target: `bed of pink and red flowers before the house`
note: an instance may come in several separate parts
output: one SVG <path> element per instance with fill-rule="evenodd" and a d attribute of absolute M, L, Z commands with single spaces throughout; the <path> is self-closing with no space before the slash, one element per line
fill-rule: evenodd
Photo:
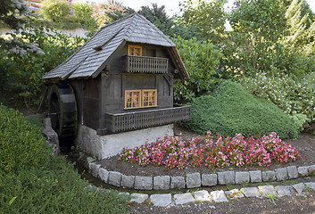
<path fill-rule="evenodd" d="M 236 134 L 233 138 L 208 131 L 206 136 L 198 136 L 184 141 L 180 136 L 163 136 L 153 144 L 144 144 L 134 149 L 124 147 L 120 161 L 138 163 L 145 167 L 165 165 L 167 169 L 184 169 L 187 166 L 210 169 L 244 165 L 269 166 L 271 161 L 286 163 L 300 157 L 290 144 L 284 143 L 276 133 L 258 139 Z"/>

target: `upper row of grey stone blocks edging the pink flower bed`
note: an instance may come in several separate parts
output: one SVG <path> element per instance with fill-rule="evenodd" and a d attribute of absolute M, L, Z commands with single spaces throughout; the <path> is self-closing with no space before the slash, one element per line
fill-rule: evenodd
<path fill-rule="evenodd" d="M 134 188 L 137 190 L 168 190 L 173 188 L 197 188 L 201 186 L 235 185 L 246 183 L 283 181 L 298 177 L 307 177 L 315 172 L 315 165 L 296 167 L 289 166 L 275 170 L 253 171 L 223 171 L 212 174 L 189 173 L 185 177 L 142 177 L 126 176 L 117 171 L 101 168 L 91 157 L 87 157 L 88 172 L 100 178 L 104 183 L 118 187 Z"/>

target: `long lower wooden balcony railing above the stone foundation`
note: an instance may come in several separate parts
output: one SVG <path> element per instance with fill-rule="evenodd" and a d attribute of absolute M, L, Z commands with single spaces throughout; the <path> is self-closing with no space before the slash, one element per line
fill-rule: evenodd
<path fill-rule="evenodd" d="M 189 105 L 151 111 L 108 113 L 107 128 L 109 131 L 117 133 L 160 126 L 187 119 L 190 119 Z"/>

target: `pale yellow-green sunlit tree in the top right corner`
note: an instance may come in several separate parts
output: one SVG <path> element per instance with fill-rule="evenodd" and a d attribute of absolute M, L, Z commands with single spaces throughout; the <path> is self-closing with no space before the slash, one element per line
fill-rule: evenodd
<path fill-rule="evenodd" d="M 286 10 L 288 33 L 281 39 L 283 59 L 279 67 L 286 74 L 303 76 L 315 71 L 315 22 L 310 13 L 303 13 L 304 0 L 293 0 Z"/>

